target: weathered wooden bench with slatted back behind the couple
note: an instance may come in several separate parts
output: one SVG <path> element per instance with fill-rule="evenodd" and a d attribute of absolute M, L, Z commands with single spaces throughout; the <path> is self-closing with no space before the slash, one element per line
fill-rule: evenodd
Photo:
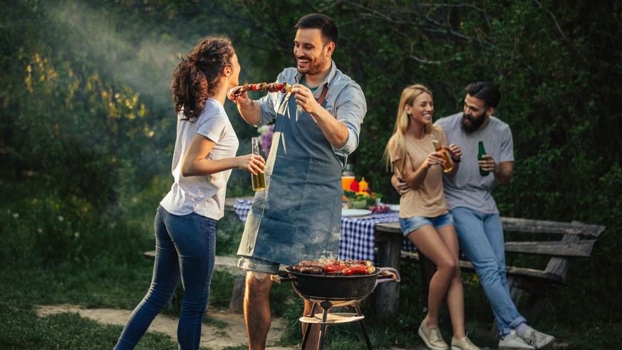
<path fill-rule="evenodd" d="M 569 285 L 566 276 L 570 259 L 590 257 L 594 243 L 605 227 L 581 222 L 554 222 L 514 217 L 502 217 L 501 222 L 506 237 L 509 292 L 514 304 L 520 306 L 521 314 L 528 321 L 534 321 L 539 312 L 546 307 L 551 291 Z M 378 224 L 375 230 L 385 235 L 402 233 L 398 222 Z M 422 282 L 427 294 L 427 285 L 436 270 L 435 265 L 417 252 L 401 251 L 400 257 L 420 262 Z M 519 264 L 522 266 L 518 266 Z M 463 271 L 475 272 L 473 265 L 466 260 L 460 261 L 460 267 Z M 527 301 L 519 304 L 526 292 Z M 496 321 L 492 326 L 492 334 L 494 337 L 498 336 Z"/>

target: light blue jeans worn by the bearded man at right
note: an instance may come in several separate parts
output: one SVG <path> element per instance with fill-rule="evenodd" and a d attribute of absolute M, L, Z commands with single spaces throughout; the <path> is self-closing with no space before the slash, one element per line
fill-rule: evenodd
<path fill-rule="evenodd" d="M 465 207 L 451 210 L 460 249 L 480 276 L 482 289 L 501 334 L 508 334 L 525 318 L 519 314 L 510 297 L 505 276 L 505 247 L 499 214 L 484 214 Z"/>

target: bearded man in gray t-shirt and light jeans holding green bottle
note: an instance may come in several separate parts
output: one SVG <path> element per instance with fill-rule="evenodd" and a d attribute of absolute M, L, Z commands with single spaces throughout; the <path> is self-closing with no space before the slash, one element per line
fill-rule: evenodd
<path fill-rule="evenodd" d="M 512 302 L 505 274 L 503 227 L 491 195 L 494 185 L 509 184 L 514 170 L 512 130 L 492 115 L 501 93 L 489 82 L 471 83 L 465 90 L 462 113 L 435 123 L 445 130 L 447 143 L 462 149 L 460 171 L 454 177 L 442 178 L 445 199 L 454 218 L 460 249 L 475 267 L 497 319 L 498 349 L 542 349 L 555 338 L 527 325 Z M 487 153 L 483 160 L 477 160 L 480 142 Z M 480 175 L 480 168 L 489 173 Z M 392 183 L 400 193 L 405 188 L 396 176 Z"/>

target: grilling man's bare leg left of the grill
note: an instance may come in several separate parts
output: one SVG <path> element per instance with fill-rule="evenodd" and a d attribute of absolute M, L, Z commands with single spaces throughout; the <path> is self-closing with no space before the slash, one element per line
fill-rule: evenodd
<path fill-rule="evenodd" d="M 244 319 L 247 323 L 249 350 L 264 350 L 270 329 L 270 290 L 272 280 L 265 272 L 247 272 L 244 290 Z M 316 347 L 317 349 L 317 347 Z"/>

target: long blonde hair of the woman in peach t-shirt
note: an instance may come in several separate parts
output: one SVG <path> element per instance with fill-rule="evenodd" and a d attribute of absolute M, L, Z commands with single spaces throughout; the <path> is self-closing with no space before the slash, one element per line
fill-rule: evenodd
<path fill-rule="evenodd" d="M 395 128 L 393 129 L 393 135 L 389 139 L 387 146 L 385 147 L 385 152 L 383 154 L 383 158 L 386 161 L 387 170 L 391 169 L 391 171 L 395 170 L 393 163 L 391 163 L 391 159 L 389 156 L 389 149 L 397 147 L 400 150 L 400 154 L 406 154 L 406 140 L 405 135 L 408 131 L 408 125 L 410 125 L 410 115 L 406 113 L 406 105 L 413 105 L 415 102 L 415 98 L 418 98 L 422 93 L 427 93 L 430 95 L 432 100 L 434 96 L 432 96 L 432 92 L 430 89 L 426 88 L 421 84 L 415 84 L 408 86 L 402 91 L 402 97 L 400 98 L 400 105 L 398 106 L 398 116 L 395 118 Z M 427 134 L 432 133 L 435 130 L 434 125 L 432 123 L 425 125 L 425 132 Z M 394 145 L 395 144 L 395 145 Z M 406 162 L 402 162 L 400 166 L 400 173 L 404 173 Z"/>

